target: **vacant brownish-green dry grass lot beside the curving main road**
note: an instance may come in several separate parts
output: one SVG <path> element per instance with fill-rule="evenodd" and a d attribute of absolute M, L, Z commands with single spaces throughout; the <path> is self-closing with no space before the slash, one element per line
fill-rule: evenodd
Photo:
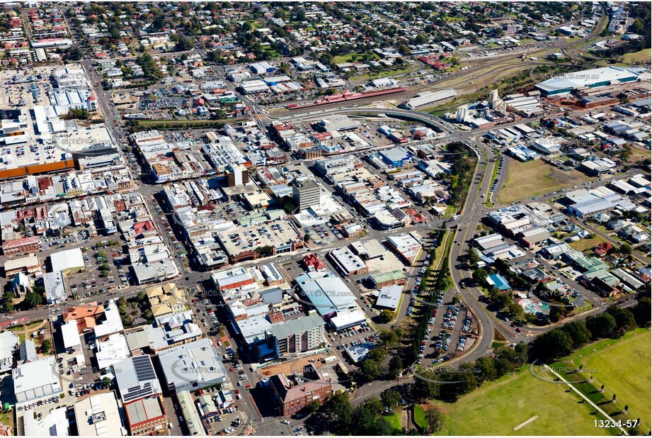
<path fill-rule="evenodd" d="M 540 159 L 528 162 L 510 159 L 507 179 L 501 191 L 498 192 L 498 202 L 509 204 L 514 201 L 522 201 L 532 196 L 588 181 L 593 181 L 593 179 L 576 170 L 557 169 Z"/>

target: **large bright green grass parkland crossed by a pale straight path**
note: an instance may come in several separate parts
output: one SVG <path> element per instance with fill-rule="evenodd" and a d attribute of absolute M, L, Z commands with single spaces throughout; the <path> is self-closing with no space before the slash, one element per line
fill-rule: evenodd
<path fill-rule="evenodd" d="M 640 429 L 645 433 L 651 427 L 650 342 L 650 330 L 639 329 L 622 339 L 606 339 L 591 344 L 553 367 L 582 364 L 584 369 L 595 371 L 593 383 L 578 383 L 576 388 L 614 420 L 641 417 Z M 625 373 L 624 369 L 629 371 Z M 568 381 L 589 378 L 583 374 L 562 376 Z M 597 393 L 596 388 L 602 384 L 605 393 Z M 481 386 L 457 403 L 438 403 L 446 420 L 444 428 L 437 434 L 613 435 L 619 432 L 618 429 L 596 429 L 593 420 L 604 417 L 591 415 L 592 406 L 580 403 L 578 395 L 566 391 L 566 385 L 540 380 L 525 367 L 513 376 Z M 617 394 L 617 403 L 600 405 L 602 400 L 611 400 L 613 393 Z M 629 405 L 629 414 L 617 415 L 624 405 Z M 415 420 L 420 416 L 417 411 Z M 522 426 L 514 430 L 519 425 Z"/>

